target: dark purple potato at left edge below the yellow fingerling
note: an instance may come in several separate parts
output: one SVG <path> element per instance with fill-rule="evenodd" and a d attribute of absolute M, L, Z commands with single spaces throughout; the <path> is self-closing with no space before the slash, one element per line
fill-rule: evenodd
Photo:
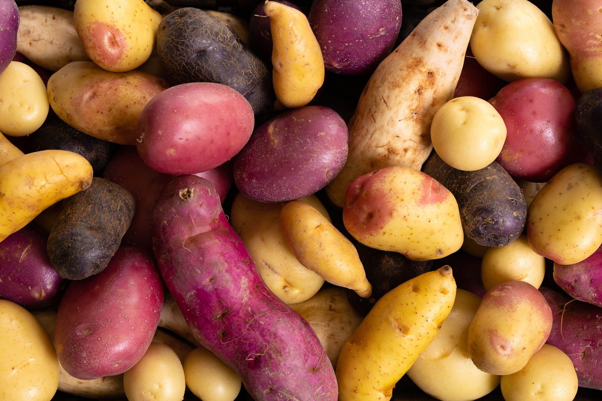
<path fill-rule="evenodd" d="M 48 235 L 40 229 L 25 227 L 2 241 L 0 299 L 24 308 L 45 308 L 58 301 L 64 279 L 48 260 L 46 240 Z"/>

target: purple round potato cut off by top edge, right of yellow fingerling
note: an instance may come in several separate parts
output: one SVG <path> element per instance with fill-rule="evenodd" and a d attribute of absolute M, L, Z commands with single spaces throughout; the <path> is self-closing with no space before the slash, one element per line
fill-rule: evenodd
<path fill-rule="evenodd" d="M 402 26 L 397 0 L 317 0 L 309 24 L 320 43 L 327 70 L 368 73 L 393 49 Z"/>

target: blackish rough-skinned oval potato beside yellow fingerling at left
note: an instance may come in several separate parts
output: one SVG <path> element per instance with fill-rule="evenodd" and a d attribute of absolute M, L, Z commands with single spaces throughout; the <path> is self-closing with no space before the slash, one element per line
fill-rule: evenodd
<path fill-rule="evenodd" d="M 134 196 L 113 182 L 95 177 L 90 188 L 63 204 L 48 237 L 52 266 L 70 280 L 102 272 L 132 221 Z"/>

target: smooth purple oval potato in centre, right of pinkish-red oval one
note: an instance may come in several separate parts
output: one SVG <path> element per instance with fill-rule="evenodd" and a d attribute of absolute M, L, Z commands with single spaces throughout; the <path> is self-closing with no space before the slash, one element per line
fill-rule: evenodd
<path fill-rule="evenodd" d="M 334 110 L 305 106 L 255 129 L 234 160 L 234 181 L 259 202 L 293 201 L 324 188 L 343 169 L 349 132 Z"/>

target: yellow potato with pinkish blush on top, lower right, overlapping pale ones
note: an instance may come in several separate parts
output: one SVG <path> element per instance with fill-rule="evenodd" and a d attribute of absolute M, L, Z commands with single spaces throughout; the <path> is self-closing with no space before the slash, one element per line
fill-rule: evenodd
<path fill-rule="evenodd" d="M 552 312 L 533 285 L 507 281 L 485 294 L 468 328 L 468 352 L 492 375 L 521 370 L 550 335 Z"/>

